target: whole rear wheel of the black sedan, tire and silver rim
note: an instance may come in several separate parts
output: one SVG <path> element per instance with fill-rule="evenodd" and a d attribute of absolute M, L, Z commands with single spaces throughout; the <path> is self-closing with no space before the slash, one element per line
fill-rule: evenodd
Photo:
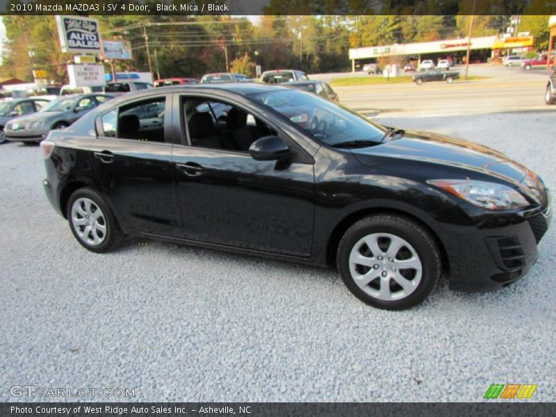
<path fill-rule="evenodd" d="M 74 191 L 67 202 L 66 214 L 74 237 L 91 252 L 111 252 L 120 245 L 122 229 L 111 208 L 96 191 L 90 188 Z M 89 224 L 91 220 L 92 225 Z"/>

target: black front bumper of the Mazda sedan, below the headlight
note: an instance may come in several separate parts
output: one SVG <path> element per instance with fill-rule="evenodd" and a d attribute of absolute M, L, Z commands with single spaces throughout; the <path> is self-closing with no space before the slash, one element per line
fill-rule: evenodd
<path fill-rule="evenodd" d="M 450 289 L 495 291 L 524 277 L 537 261 L 537 245 L 550 225 L 550 205 L 504 227 L 444 224 Z M 464 243 L 464 244 L 462 244 Z"/>

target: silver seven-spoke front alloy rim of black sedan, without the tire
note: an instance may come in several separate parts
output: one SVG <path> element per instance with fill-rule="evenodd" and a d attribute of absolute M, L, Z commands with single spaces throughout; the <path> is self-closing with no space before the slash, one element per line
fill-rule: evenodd
<path fill-rule="evenodd" d="M 401 300 L 414 293 L 423 275 L 423 263 L 407 240 L 375 233 L 359 239 L 350 252 L 354 282 L 377 300 Z"/>

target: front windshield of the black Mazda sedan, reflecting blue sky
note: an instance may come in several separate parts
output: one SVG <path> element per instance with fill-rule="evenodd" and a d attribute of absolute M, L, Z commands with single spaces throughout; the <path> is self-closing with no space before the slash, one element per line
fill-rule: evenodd
<path fill-rule="evenodd" d="M 382 142 L 387 129 L 320 96 L 300 90 L 260 92 L 250 95 L 306 133 L 327 145 L 343 142 Z M 356 147 L 357 145 L 354 145 Z"/>

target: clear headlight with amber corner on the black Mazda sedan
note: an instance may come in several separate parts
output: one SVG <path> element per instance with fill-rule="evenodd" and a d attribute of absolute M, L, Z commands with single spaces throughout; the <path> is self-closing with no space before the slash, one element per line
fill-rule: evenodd
<path fill-rule="evenodd" d="M 432 179 L 427 183 L 489 210 L 507 210 L 529 205 L 518 191 L 502 184 L 459 179 Z"/>

